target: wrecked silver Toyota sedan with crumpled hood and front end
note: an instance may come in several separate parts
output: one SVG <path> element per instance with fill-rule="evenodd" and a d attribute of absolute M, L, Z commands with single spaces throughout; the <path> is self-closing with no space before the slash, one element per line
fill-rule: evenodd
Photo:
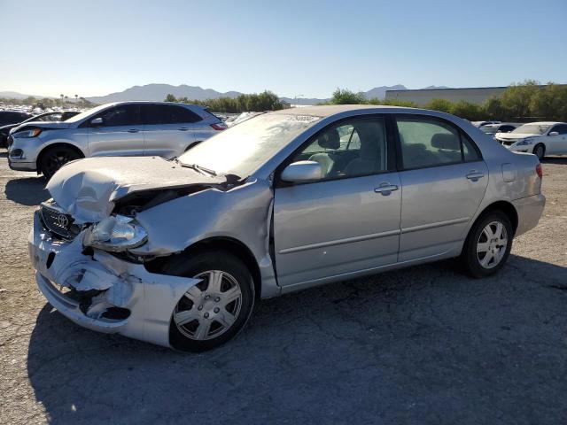
<path fill-rule="evenodd" d="M 540 220 L 540 188 L 538 158 L 447 113 L 287 109 L 175 160 L 67 164 L 30 255 L 75 323 L 199 351 L 237 335 L 260 298 L 439 259 L 494 274 Z"/>

